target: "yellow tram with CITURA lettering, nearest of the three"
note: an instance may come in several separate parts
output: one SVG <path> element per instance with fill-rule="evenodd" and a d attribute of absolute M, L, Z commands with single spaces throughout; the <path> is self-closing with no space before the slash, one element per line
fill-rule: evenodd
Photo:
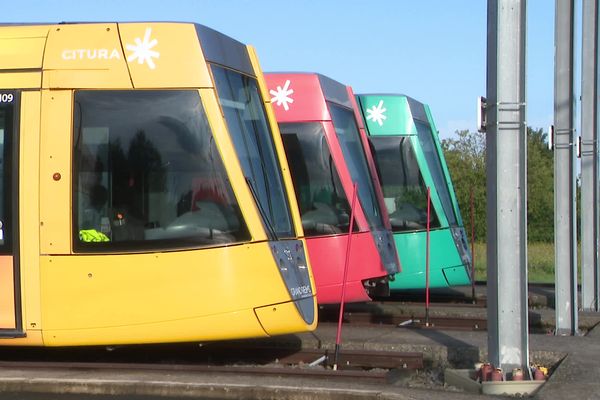
<path fill-rule="evenodd" d="M 269 99 L 201 25 L 0 26 L 0 345 L 314 329 Z"/>

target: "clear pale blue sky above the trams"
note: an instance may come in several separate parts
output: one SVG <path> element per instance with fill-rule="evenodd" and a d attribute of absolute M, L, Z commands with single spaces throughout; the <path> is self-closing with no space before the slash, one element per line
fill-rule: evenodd
<path fill-rule="evenodd" d="M 7 3 L 7 4 L 3 4 Z M 265 72 L 319 72 L 355 93 L 429 104 L 442 138 L 476 129 L 486 0 L 0 0 L 0 22 L 197 22 L 256 47 Z M 527 123 L 552 123 L 554 0 L 527 2 Z"/>

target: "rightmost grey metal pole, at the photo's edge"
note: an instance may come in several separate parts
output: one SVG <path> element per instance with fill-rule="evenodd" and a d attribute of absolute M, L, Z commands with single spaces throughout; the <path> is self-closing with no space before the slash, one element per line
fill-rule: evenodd
<path fill-rule="evenodd" d="M 583 0 L 581 51 L 581 308 L 598 309 L 598 0 Z"/>

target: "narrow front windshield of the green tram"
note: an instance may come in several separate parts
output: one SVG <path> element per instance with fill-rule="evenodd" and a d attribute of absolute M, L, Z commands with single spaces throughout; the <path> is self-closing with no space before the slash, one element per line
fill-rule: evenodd
<path fill-rule="evenodd" d="M 437 146 L 433 141 L 433 132 L 427 123 L 415 120 L 415 125 L 417 127 L 417 137 L 419 138 L 419 143 L 421 143 L 425 159 L 427 160 L 427 166 L 433 177 L 435 190 L 442 202 L 444 214 L 446 214 L 446 218 L 448 218 L 448 224 L 450 226 L 458 226 L 456 213 L 454 211 L 454 206 L 452 205 L 452 198 L 450 197 L 450 189 L 448 189 L 448 184 L 446 183 L 446 177 L 444 175 L 444 170 L 442 169 L 442 162 L 440 161 Z"/>

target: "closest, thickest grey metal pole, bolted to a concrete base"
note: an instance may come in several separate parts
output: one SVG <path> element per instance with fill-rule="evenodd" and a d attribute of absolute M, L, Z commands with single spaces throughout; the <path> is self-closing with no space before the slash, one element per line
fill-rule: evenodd
<path fill-rule="evenodd" d="M 525 9 L 488 0 L 488 353 L 504 371 L 529 365 Z"/>

